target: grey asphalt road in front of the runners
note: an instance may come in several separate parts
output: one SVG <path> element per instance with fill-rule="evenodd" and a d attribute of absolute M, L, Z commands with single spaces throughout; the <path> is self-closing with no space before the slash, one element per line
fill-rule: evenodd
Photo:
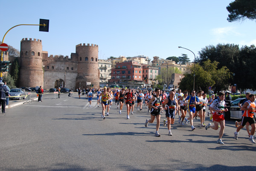
<path fill-rule="evenodd" d="M 89 107 L 81 97 L 44 95 L 43 102 L 25 103 L 1 114 L 0 170 L 256 170 L 256 145 L 247 140 L 245 130 L 233 139 L 235 120 L 227 121 L 224 145 L 216 143 L 218 131 L 200 128 L 198 120 L 194 131 L 175 120 L 173 136 L 161 124 L 161 137 L 154 137 L 156 121 L 145 128 L 150 118 L 145 108 L 135 109 L 127 120 L 126 107 L 119 114 L 112 105 L 110 116 L 102 120 L 95 98 Z"/>

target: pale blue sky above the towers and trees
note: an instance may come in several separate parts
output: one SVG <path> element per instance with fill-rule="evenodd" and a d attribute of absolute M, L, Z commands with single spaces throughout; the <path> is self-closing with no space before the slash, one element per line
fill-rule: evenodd
<path fill-rule="evenodd" d="M 19 24 L 49 20 L 39 26 L 17 26 L 3 41 L 20 50 L 23 38 L 42 40 L 49 55 L 69 56 L 76 45 L 99 46 L 99 59 L 154 56 L 166 59 L 218 43 L 256 45 L 256 22 L 229 23 L 226 7 L 233 0 L 2 0 L 0 40 Z M 5 16 L 6 15 L 6 16 Z"/>

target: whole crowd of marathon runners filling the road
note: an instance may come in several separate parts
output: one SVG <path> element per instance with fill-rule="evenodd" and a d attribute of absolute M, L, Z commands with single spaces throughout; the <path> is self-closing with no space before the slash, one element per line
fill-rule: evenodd
<path fill-rule="evenodd" d="M 228 92 L 228 91 L 227 91 Z M 217 143 L 224 144 L 221 137 L 224 134 L 225 128 L 225 119 L 224 112 L 228 111 L 228 108 L 225 105 L 225 93 L 223 91 L 219 92 L 217 96 L 212 94 L 209 99 L 207 99 L 207 93 L 202 90 L 196 92 L 192 90 L 190 93 L 187 91 L 181 92 L 181 89 L 178 89 L 177 92 L 175 89 L 166 93 L 156 88 L 155 90 L 144 90 L 142 91 L 131 88 L 107 88 L 98 89 L 95 91 L 97 96 L 97 104 L 102 106 L 102 115 L 101 117 L 105 120 L 106 116 L 109 115 L 109 111 L 113 101 L 117 108 L 119 108 L 119 114 L 122 114 L 123 105 L 126 106 L 125 114 L 126 118 L 130 118 L 130 114 L 134 114 L 134 107 L 137 110 L 142 110 L 143 101 L 145 101 L 144 106 L 148 109 L 148 112 L 151 114 L 150 118 L 145 121 L 145 127 L 148 126 L 148 123 L 153 123 L 154 120 L 157 120 L 155 136 L 160 137 L 159 128 L 160 128 L 160 117 L 161 114 L 165 111 L 165 118 L 163 120 L 163 126 L 167 125 L 169 130 L 169 136 L 172 136 L 171 125 L 175 122 L 175 115 L 178 116 L 178 123 L 180 125 L 190 124 L 191 131 L 195 130 L 193 125 L 193 120 L 200 118 L 201 124 L 200 127 L 204 127 L 206 130 L 212 128 L 219 131 L 219 137 Z M 87 93 L 87 98 L 91 106 L 91 101 L 93 98 L 93 93 L 91 90 Z M 246 94 L 246 99 L 239 102 L 239 107 L 241 108 L 243 115 L 241 122 L 236 121 L 236 132 L 234 133 L 234 138 L 238 139 L 238 132 L 241 128 L 246 125 L 249 140 L 252 143 L 256 143 L 253 140 L 253 134 L 255 132 L 255 94 Z M 209 111 L 207 116 L 210 117 L 211 122 L 207 125 L 205 124 L 206 108 L 209 104 Z M 107 114 L 105 111 L 107 110 Z M 123 111 L 124 112 L 124 111 Z M 188 114 L 187 114 L 188 113 Z M 251 130 L 249 130 L 249 125 Z"/>

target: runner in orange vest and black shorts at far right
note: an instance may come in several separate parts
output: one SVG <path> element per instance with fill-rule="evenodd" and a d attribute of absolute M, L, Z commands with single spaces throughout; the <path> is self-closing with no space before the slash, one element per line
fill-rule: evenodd
<path fill-rule="evenodd" d="M 242 121 L 241 121 L 241 125 L 239 125 L 239 127 L 236 128 L 236 132 L 234 133 L 234 138 L 237 140 L 238 139 L 238 133 L 240 131 L 241 128 L 244 128 L 244 125 L 248 122 L 251 125 L 251 131 L 250 131 L 250 138 L 249 141 L 252 143 L 256 143 L 253 140 L 253 135 L 255 132 L 255 120 L 254 120 L 254 112 L 255 112 L 255 95 L 254 94 L 250 94 L 249 95 L 249 100 L 247 100 L 244 105 L 242 105 L 241 110 L 244 111 L 244 114 L 242 115 Z"/>

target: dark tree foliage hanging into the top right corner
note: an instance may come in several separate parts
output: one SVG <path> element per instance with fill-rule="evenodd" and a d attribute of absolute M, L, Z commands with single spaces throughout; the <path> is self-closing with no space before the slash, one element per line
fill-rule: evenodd
<path fill-rule="evenodd" d="M 229 22 L 256 19 L 256 0 L 235 0 L 227 6 Z"/>

